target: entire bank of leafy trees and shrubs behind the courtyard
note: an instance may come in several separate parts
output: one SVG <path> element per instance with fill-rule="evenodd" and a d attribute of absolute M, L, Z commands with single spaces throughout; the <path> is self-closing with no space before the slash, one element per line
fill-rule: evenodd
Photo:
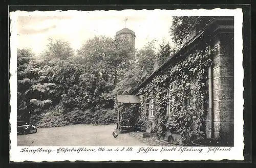
<path fill-rule="evenodd" d="M 168 57 L 169 44 L 162 48 Z M 61 39 L 49 39 L 39 57 L 18 49 L 17 120 L 38 127 L 111 122 L 116 95 L 138 86 L 158 57 L 154 41 L 136 51 L 129 42 L 104 36 L 84 42 L 76 53 Z"/>

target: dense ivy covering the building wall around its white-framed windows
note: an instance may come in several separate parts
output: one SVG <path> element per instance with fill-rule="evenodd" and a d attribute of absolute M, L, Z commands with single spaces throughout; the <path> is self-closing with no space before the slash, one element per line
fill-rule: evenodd
<path fill-rule="evenodd" d="M 181 134 L 184 143 L 195 135 L 204 137 L 211 64 L 209 47 L 201 45 L 141 88 L 140 120 L 146 129 L 151 127 L 158 137 L 166 131 Z M 154 118 L 149 116 L 151 99 Z"/>

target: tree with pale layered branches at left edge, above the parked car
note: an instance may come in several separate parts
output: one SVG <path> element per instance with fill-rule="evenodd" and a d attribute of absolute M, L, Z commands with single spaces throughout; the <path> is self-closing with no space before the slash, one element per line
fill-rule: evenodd
<path fill-rule="evenodd" d="M 30 49 L 17 50 L 17 118 L 29 121 L 31 115 L 49 108 L 58 98 L 57 85 L 44 73 L 49 66 L 41 67 Z M 35 110 L 36 109 L 36 110 Z"/>

